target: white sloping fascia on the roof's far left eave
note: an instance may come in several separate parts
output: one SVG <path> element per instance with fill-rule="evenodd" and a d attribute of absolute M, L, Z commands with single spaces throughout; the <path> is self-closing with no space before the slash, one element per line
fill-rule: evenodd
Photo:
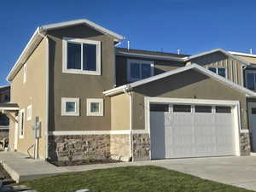
<path fill-rule="evenodd" d="M 34 44 L 37 39 L 38 39 L 38 42 L 40 42 L 40 40 L 43 38 L 40 35 L 38 35 L 38 32 L 39 32 L 39 27 L 33 33 L 32 38 L 30 38 L 30 40 L 26 44 L 25 49 L 23 49 L 23 51 L 21 52 L 18 60 L 15 62 L 15 66 L 12 67 L 12 69 L 10 70 L 9 75 L 6 78 L 7 81 L 11 82 L 14 79 L 15 74 L 20 70 L 20 67 L 24 64 L 23 62 L 24 60 L 26 60 L 25 57 L 29 53 L 32 47 L 32 44 Z"/>

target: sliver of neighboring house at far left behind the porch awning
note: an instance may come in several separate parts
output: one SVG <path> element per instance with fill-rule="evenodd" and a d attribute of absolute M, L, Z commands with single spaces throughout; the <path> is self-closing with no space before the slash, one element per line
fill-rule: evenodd
<path fill-rule="evenodd" d="M 10 102 L 10 85 L 0 86 L 0 103 Z M 0 140 L 9 137 L 9 118 L 0 111 Z"/>

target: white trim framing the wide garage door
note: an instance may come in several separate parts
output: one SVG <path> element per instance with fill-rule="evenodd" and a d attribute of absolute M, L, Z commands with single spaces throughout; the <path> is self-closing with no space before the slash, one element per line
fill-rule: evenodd
<path fill-rule="evenodd" d="M 167 97 L 144 97 L 144 113 L 145 113 L 145 130 L 141 133 L 148 133 L 150 136 L 150 103 L 176 103 L 176 104 L 207 104 L 207 105 L 223 105 L 234 107 L 234 121 L 235 121 L 235 139 L 236 139 L 236 155 L 241 155 L 240 150 L 240 132 L 241 132 L 241 119 L 240 119 L 240 103 L 239 101 L 229 100 L 205 100 L 205 99 L 180 99 L 180 98 L 167 98 Z"/>

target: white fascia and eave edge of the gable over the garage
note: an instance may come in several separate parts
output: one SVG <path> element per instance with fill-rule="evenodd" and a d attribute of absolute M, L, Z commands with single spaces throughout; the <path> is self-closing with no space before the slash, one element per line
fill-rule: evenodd
<path fill-rule="evenodd" d="M 208 77 L 210 77 L 212 79 L 216 79 L 219 82 L 221 82 L 223 84 L 226 84 L 226 85 L 230 86 L 233 89 L 236 89 L 236 90 L 239 90 L 239 91 L 245 93 L 247 96 L 256 96 L 256 93 L 253 92 L 252 90 L 248 90 L 247 88 L 242 87 L 241 85 L 238 85 L 238 84 L 236 84 L 236 83 L 234 83 L 234 82 L 232 82 L 228 79 L 225 79 L 225 78 L 221 77 L 220 75 L 218 75 L 216 73 L 212 73 L 207 68 L 201 67 L 198 64 L 191 64 L 191 65 L 186 66 L 186 67 L 180 67 L 180 68 L 174 69 L 172 71 L 168 71 L 166 73 L 161 73 L 161 74 L 155 75 L 155 76 L 150 77 L 148 79 L 139 80 L 139 81 L 136 81 L 136 82 L 131 83 L 131 84 L 125 84 L 125 85 L 119 86 L 117 88 L 113 88 L 111 90 L 105 90 L 103 92 L 103 94 L 105 96 L 113 96 L 113 95 L 119 94 L 121 92 L 129 91 L 134 87 L 137 87 L 137 86 L 140 86 L 140 85 L 143 85 L 143 84 L 148 84 L 148 83 L 153 82 L 155 80 L 163 79 L 163 78 L 169 77 L 173 74 L 182 73 L 182 72 L 188 71 L 190 69 L 195 69 L 196 71 L 198 71 L 200 73 L 203 73 L 203 74 L 207 75 Z"/>

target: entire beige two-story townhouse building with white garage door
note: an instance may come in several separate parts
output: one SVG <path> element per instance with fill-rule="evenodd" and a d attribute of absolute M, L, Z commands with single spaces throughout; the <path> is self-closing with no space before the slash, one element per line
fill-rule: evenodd
<path fill-rule="evenodd" d="M 7 78 L 11 103 L 0 105 L 10 148 L 49 160 L 256 151 L 256 55 L 116 48 L 122 40 L 90 20 L 38 27 Z"/>

